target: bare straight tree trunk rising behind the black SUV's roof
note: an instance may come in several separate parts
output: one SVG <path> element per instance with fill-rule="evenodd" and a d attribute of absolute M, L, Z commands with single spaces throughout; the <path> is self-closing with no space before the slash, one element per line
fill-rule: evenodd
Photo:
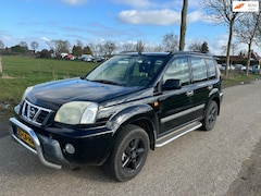
<path fill-rule="evenodd" d="M 187 7 L 188 0 L 183 0 L 183 9 L 182 9 L 182 24 L 181 24 L 181 39 L 179 39 L 179 51 L 183 51 L 185 48 L 185 37 L 187 29 Z"/>

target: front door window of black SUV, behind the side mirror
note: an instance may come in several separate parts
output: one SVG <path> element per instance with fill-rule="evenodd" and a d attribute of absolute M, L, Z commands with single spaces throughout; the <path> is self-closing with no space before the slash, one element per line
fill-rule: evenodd
<path fill-rule="evenodd" d="M 163 76 L 163 83 L 165 83 L 166 79 L 181 79 L 182 85 L 189 84 L 189 66 L 188 66 L 188 59 L 187 58 L 179 58 L 173 60 L 164 76 Z"/>

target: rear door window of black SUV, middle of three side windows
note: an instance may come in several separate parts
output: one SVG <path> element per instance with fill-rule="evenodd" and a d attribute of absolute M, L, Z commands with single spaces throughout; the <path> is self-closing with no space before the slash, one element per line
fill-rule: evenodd
<path fill-rule="evenodd" d="M 191 58 L 192 82 L 198 83 L 208 79 L 208 70 L 204 59 Z"/>

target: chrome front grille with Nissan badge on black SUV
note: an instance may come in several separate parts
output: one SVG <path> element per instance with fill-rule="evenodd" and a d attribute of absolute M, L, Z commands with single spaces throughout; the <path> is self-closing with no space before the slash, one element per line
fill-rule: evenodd
<path fill-rule="evenodd" d="M 42 125 L 47 122 L 49 113 L 51 113 L 51 110 L 35 106 L 27 100 L 24 101 L 22 107 L 22 117 L 37 125 Z"/>

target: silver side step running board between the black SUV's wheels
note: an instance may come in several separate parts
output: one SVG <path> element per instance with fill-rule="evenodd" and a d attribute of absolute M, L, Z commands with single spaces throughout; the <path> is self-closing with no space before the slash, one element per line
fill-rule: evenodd
<path fill-rule="evenodd" d="M 181 127 L 179 130 L 176 130 L 175 132 L 172 132 L 172 133 L 164 135 L 164 136 L 160 137 L 159 139 L 157 139 L 156 147 L 162 147 L 162 146 L 175 140 L 178 137 L 199 128 L 200 126 L 202 126 L 201 122 L 194 122 L 184 127 Z"/>

